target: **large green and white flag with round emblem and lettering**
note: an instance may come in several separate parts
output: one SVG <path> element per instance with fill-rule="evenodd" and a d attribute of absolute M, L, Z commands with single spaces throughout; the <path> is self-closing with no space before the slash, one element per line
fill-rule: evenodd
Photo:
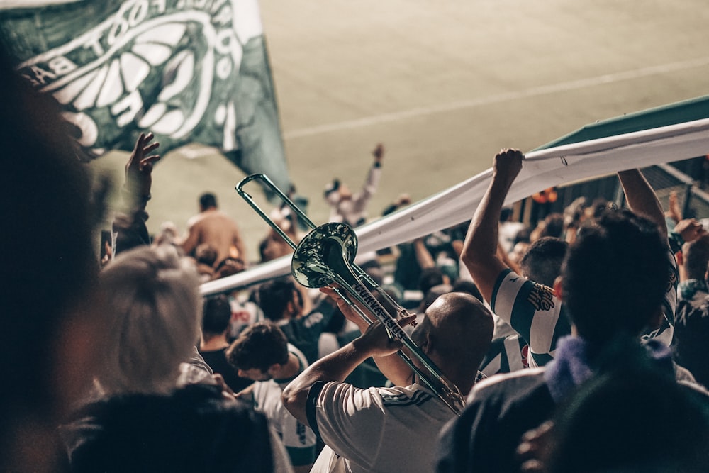
<path fill-rule="evenodd" d="M 289 189 L 256 0 L 11 0 L 0 29 L 17 69 L 65 107 L 79 143 L 221 150 Z"/>

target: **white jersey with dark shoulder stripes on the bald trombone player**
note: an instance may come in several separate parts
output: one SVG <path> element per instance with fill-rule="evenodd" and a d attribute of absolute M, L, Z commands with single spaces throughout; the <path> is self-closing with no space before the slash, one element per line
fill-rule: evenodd
<path fill-rule="evenodd" d="M 425 386 L 319 384 L 308 422 L 327 445 L 311 473 L 433 471 L 435 439 L 455 414 Z"/>

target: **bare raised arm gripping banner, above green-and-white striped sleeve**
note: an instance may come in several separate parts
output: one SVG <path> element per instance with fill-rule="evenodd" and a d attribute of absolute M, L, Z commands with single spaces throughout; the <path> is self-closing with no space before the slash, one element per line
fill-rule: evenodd
<path fill-rule="evenodd" d="M 476 208 L 463 244 L 463 263 L 488 302 L 499 274 L 508 268 L 497 255 L 498 226 L 507 193 L 522 170 L 522 160 L 523 154 L 518 150 L 502 150 L 495 156 L 492 181 Z"/>

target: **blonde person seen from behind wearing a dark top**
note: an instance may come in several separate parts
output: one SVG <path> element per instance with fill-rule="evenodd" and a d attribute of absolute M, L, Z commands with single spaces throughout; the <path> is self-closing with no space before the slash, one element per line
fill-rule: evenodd
<path fill-rule="evenodd" d="M 97 397 L 62 426 L 72 471 L 289 470 L 264 416 L 206 371 L 185 377 L 201 316 L 188 258 L 169 245 L 136 247 L 104 268 L 99 290 L 109 335 Z"/>

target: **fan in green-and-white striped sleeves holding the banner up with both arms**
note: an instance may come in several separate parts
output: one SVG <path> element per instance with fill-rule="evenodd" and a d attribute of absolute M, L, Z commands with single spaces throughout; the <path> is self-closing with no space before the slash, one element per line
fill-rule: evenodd
<path fill-rule="evenodd" d="M 569 334 L 570 325 L 569 319 L 564 315 L 565 304 L 551 286 L 520 277 L 520 274 L 513 272 L 498 255 L 499 214 L 510 187 L 522 169 L 522 160 L 522 153 L 516 150 L 503 150 L 496 155 L 493 178 L 481 204 L 475 211 L 462 259 L 493 313 L 508 323 L 529 345 L 527 361 L 530 367 L 536 367 L 552 360 L 557 341 Z M 628 176 L 628 174 L 623 175 Z M 623 179 L 621 183 L 623 184 Z M 632 186 L 629 189 L 630 194 L 626 192 L 628 203 L 632 202 L 631 206 L 634 210 L 647 216 L 659 226 L 662 238 L 666 239 L 664 211 L 652 187 Z M 671 254 L 669 244 L 667 253 L 667 260 L 671 261 L 671 269 L 668 269 L 669 282 L 662 306 L 664 313 L 662 323 L 656 328 L 647 330 L 643 336 L 659 338 L 669 346 L 673 331 L 677 274 L 674 255 Z M 530 267 L 534 266 L 530 265 Z M 546 283 L 549 284 L 549 280 Z"/>

